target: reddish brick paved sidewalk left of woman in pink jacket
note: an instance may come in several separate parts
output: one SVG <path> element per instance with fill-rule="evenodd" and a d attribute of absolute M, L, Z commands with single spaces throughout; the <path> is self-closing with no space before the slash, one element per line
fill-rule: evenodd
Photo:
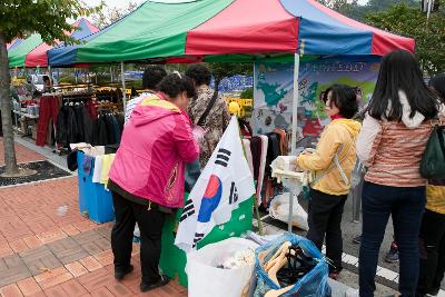
<path fill-rule="evenodd" d="M 17 147 L 21 162 L 44 159 Z M 135 271 L 117 283 L 112 224 L 82 217 L 77 197 L 76 177 L 0 188 L 1 296 L 142 296 L 139 245 L 134 246 Z M 57 214 L 60 206 L 68 206 L 65 216 Z M 171 283 L 145 296 L 187 296 L 187 290 Z"/>

